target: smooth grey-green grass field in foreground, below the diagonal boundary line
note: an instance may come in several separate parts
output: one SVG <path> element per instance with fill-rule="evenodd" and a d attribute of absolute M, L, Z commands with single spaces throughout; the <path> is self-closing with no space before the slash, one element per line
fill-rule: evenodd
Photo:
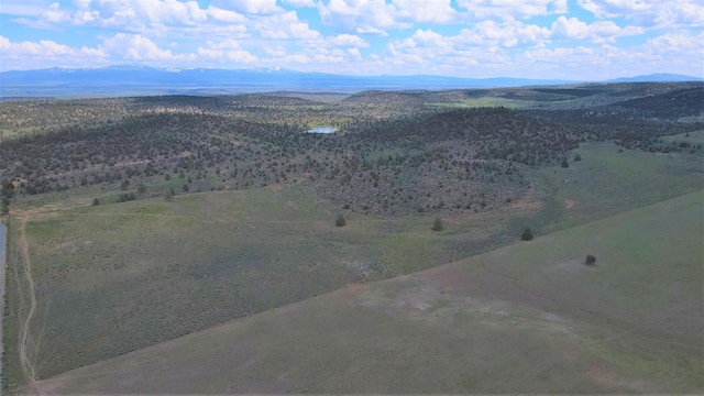
<path fill-rule="evenodd" d="M 62 394 L 702 392 L 703 199 L 697 191 L 349 286 L 38 385 Z"/>

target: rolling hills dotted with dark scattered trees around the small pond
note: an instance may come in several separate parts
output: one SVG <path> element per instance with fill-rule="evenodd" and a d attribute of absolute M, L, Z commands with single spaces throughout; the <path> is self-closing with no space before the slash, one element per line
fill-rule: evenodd
<path fill-rule="evenodd" d="M 164 194 L 304 183 L 370 215 L 483 212 L 525 195 L 532 167 L 564 166 L 586 141 L 701 151 L 661 136 L 702 129 L 676 121 L 702 111 L 702 91 L 683 82 L 366 91 L 336 102 L 286 92 L 2 102 L 0 179 L 19 196 L 139 186 L 138 199 L 141 186 Z M 482 98 L 528 108 L 463 108 Z M 666 99 L 679 105 L 660 107 Z M 342 133 L 305 133 L 311 124 Z"/>

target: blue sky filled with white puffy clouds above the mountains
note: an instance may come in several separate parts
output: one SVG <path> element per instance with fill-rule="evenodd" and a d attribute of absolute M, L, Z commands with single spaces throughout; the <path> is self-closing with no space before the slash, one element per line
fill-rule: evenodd
<path fill-rule="evenodd" d="M 0 72 L 704 77 L 702 0 L 0 0 Z"/>

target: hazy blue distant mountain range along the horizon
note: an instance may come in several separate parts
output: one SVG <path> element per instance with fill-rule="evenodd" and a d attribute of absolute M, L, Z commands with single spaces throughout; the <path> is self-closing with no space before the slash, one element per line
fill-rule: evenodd
<path fill-rule="evenodd" d="M 658 74 L 605 82 L 693 81 L 702 78 Z M 443 76 L 343 76 L 288 69 L 154 68 L 116 65 L 0 73 L 0 97 L 105 97 L 131 95 L 213 95 L 277 90 L 356 92 L 365 89 L 453 89 L 554 86 L 584 81 Z"/>

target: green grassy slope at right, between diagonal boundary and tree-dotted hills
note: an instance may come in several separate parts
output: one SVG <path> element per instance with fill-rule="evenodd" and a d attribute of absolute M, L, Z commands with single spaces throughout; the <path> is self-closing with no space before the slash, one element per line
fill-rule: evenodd
<path fill-rule="evenodd" d="M 696 139 L 692 133 L 691 139 Z M 667 139 L 667 138 L 666 138 Z M 581 144 L 570 167 L 548 167 L 542 178 L 554 199 L 564 205 L 572 227 L 704 188 L 702 153 L 653 154 L 624 150 L 613 143 Z M 580 154 L 581 161 L 573 161 Z"/>

